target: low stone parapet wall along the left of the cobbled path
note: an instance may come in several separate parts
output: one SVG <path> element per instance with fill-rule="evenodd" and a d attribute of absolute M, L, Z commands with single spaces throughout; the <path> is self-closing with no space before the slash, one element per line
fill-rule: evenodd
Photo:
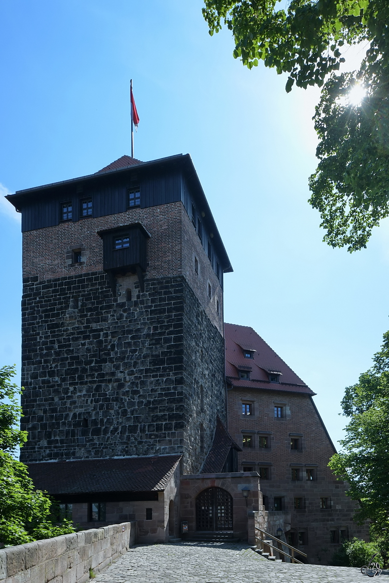
<path fill-rule="evenodd" d="M 135 543 L 136 522 L 93 528 L 0 550 L 1 583 L 84 583 Z"/>

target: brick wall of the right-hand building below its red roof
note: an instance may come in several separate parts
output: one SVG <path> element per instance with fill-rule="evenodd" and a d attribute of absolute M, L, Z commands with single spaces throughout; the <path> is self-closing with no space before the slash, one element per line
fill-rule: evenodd
<path fill-rule="evenodd" d="M 242 401 L 254 406 L 253 416 L 242 415 Z M 274 406 L 283 405 L 286 416 L 274 417 Z M 274 497 L 282 497 L 284 508 L 290 512 L 293 531 L 307 533 L 308 545 L 302 550 L 309 555 L 311 563 L 327 563 L 337 545 L 330 543 L 330 530 L 348 528 L 349 538 L 366 538 L 368 529 L 353 522 L 356 503 L 345 496 L 347 484 L 339 482 L 328 468 L 328 460 L 334 448 L 325 433 L 309 396 L 282 391 L 255 391 L 231 389 L 227 392 L 229 432 L 242 447 L 242 430 L 250 430 L 254 448 L 243 448 L 239 453 L 239 467 L 252 466 L 258 469 L 261 462 L 271 463 L 271 479 L 261 480 L 261 490 L 268 497 L 268 508 L 273 510 Z M 271 432 L 270 448 L 258 447 L 258 432 Z M 290 449 L 290 433 L 299 436 L 302 449 Z M 247 433 L 246 433 L 247 435 Z M 295 436 L 297 437 L 297 436 Z M 292 480 L 291 464 L 300 470 L 300 480 Z M 264 464 L 265 465 L 265 464 Z M 306 480 L 306 468 L 316 473 L 313 482 Z M 302 497 L 305 508 L 294 509 L 294 498 Z M 331 503 L 328 510 L 320 509 L 320 498 L 327 497 Z M 275 534 L 271 532 L 271 534 Z"/>

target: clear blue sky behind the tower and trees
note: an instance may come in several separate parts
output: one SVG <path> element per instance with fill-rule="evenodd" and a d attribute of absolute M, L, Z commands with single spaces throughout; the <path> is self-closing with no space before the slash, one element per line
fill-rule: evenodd
<path fill-rule="evenodd" d="M 317 392 L 331 437 L 347 385 L 388 325 L 389 224 L 366 250 L 322 243 L 307 204 L 318 90 L 293 89 L 209 36 L 201 0 L 0 0 L 2 194 L 93 173 L 131 154 L 189 152 L 234 273 L 227 322 L 253 326 Z M 19 217 L 0 201 L 0 364 L 20 368 Z"/>

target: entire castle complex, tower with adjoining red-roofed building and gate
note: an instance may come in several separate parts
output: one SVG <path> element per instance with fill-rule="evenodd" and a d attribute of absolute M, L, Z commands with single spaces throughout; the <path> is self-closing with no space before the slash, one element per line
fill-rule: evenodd
<path fill-rule="evenodd" d="M 38 489 L 83 528 L 135 520 L 141 543 L 252 544 L 255 524 L 282 525 L 326 563 L 363 533 L 314 392 L 253 328 L 223 324 L 233 270 L 189 154 L 6 198 L 22 213 L 20 460 Z"/>

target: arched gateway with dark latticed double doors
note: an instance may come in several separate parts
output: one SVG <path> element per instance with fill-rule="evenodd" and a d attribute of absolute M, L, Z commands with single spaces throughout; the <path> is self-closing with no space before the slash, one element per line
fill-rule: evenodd
<path fill-rule="evenodd" d="M 232 531 L 232 496 L 222 488 L 208 488 L 196 498 L 197 531 Z"/>

